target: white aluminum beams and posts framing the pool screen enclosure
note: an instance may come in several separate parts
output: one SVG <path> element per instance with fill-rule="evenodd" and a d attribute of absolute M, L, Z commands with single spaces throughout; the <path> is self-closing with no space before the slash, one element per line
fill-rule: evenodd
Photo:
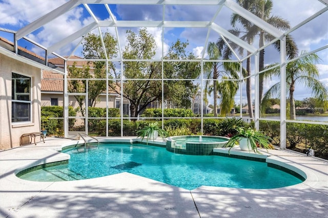
<path fill-rule="evenodd" d="M 9 56 L 15 57 L 15 59 L 20 59 L 23 60 L 24 62 L 28 62 L 31 63 L 33 61 L 30 60 L 26 60 L 26 58 L 24 57 L 20 57 L 19 55 L 17 55 L 17 40 L 20 38 L 25 38 L 26 40 L 31 41 L 32 43 L 34 43 L 35 45 L 39 46 L 40 48 L 43 48 L 46 50 L 46 60 L 48 58 L 49 54 L 55 54 L 56 56 L 62 58 L 64 60 L 64 133 L 65 133 L 65 137 L 68 136 L 68 120 L 69 120 L 69 115 L 68 115 L 68 97 L 69 95 L 72 95 L 71 93 L 69 94 L 67 91 L 68 88 L 68 79 L 67 79 L 67 61 L 68 60 L 74 60 L 74 59 L 70 59 L 70 58 L 64 58 L 60 55 L 57 55 L 56 53 L 54 53 L 55 51 L 59 50 L 60 48 L 63 48 L 64 46 L 68 45 L 69 43 L 71 43 L 72 41 L 81 38 L 78 45 L 74 48 L 74 50 L 71 52 L 71 55 L 74 54 L 74 51 L 77 49 L 77 47 L 80 45 L 80 43 L 83 41 L 83 36 L 86 35 L 87 33 L 89 33 L 92 30 L 98 29 L 98 32 L 101 36 L 101 27 L 114 27 L 115 28 L 115 33 L 116 33 L 116 38 L 118 41 L 118 52 L 119 52 L 119 59 L 109 59 L 108 55 L 105 54 L 106 59 L 103 59 L 103 61 L 106 61 L 106 66 L 107 66 L 107 72 L 106 72 L 106 84 L 108 85 L 108 80 L 109 80 L 109 71 L 108 71 L 108 61 L 119 61 L 121 63 L 121 72 L 123 72 L 123 67 L 122 67 L 122 63 L 124 61 L 136 61 L 136 60 L 124 60 L 122 58 L 122 51 L 121 51 L 121 46 L 119 44 L 119 35 L 118 35 L 118 30 L 117 28 L 119 27 L 129 27 L 129 28 L 133 28 L 133 27 L 160 27 L 162 29 L 162 47 L 163 47 L 163 41 L 164 41 L 164 34 L 163 34 L 163 30 L 165 28 L 208 28 L 208 33 L 207 33 L 207 37 L 206 40 L 204 41 L 204 49 L 202 51 L 202 56 L 200 60 L 168 60 L 168 59 L 159 59 L 159 60 L 144 60 L 144 61 L 161 61 L 162 63 L 162 76 L 161 80 L 162 81 L 162 90 L 163 90 L 163 80 L 166 80 L 163 77 L 163 62 L 164 61 L 200 61 L 200 66 L 201 66 L 201 74 L 200 74 L 200 81 L 201 83 L 204 81 L 203 78 L 203 63 L 207 62 L 209 60 L 204 60 L 204 54 L 205 54 L 205 48 L 207 47 L 207 43 L 208 43 L 208 38 L 210 35 L 211 30 L 215 31 L 218 33 L 219 36 L 222 37 L 222 39 L 227 43 L 228 47 L 231 49 L 231 51 L 233 52 L 233 54 L 237 57 L 237 61 L 239 62 L 240 65 L 242 66 L 242 62 L 244 60 L 246 60 L 248 57 L 250 56 L 254 56 L 255 57 L 255 73 L 253 75 L 251 75 L 250 77 L 255 78 L 255 117 L 254 117 L 254 121 L 255 121 L 255 127 L 258 129 L 259 128 L 259 120 L 261 120 L 259 118 L 260 116 L 260 112 L 259 112 L 259 74 L 263 73 L 265 71 L 261 71 L 259 72 L 259 51 L 268 47 L 269 45 L 271 45 L 274 41 L 280 40 L 280 82 L 281 84 L 285 84 L 286 82 L 286 78 L 285 78 L 285 73 L 286 73 L 286 64 L 289 63 L 290 61 L 293 60 L 297 60 L 299 59 L 301 56 L 293 59 L 293 60 L 286 60 L 286 39 L 285 36 L 291 32 L 293 32 L 294 30 L 298 29 L 299 27 L 302 27 L 304 24 L 308 23 L 309 21 L 313 20 L 314 18 L 316 18 L 317 16 L 319 16 L 320 14 L 326 12 L 328 10 L 328 0 L 317 0 L 320 3 L 322 3 L 324 5 L 324 7 L 316 12 L 315 14 L 313 14 L 312 16 L 310 16 L 309 18 L 306 18 L 305 20 L 303 20 L 300 24 L 296 25 L 295 27 L 291 28 L 290 30 L 286 31 L 286 32 L 281 32 L 280 30 L 278 30 L 277 28 L 269 25 L 268 23 L 266 23 L 265 21 L 263 21 L 262 19 L 260 19 L 259 17 L 257 17 L 256 15 L 252 14 L 251 12 L 245 10 L 244 8 L 240 7 L 238 4 L 236 4 L 233 0 L 188 0 L 188 1 L 182 1 L 182 0 L 71 0 L 61 6 L 59 6 L 58 8 L 54 9 L 53 11 L 43 15 L 42 17 L 39 17 L 38 19 L 36 19 L 35 21 L 32 21 L 30 24 L 28 24 L 27 26 L 19 29 L 17 32 L 15 31 L 9 31 L 7 30 L 7 32 L 12 32 L 14 34 L 14 51 L 15 53 L 10 53 L 8 51 L 5 51 L 5 49 L 0 48 L 0 53 L 3 54 L 9 54 Z M 104 4 L 105 8 L 109 14 L 110 20 L 98 20 L 97 17 L 95 16 L 94 12 L 90 9 L 89 4 Z M 149 20 L 116 20 L 115 16 L 113 15 L 111 9 L 109 8 L 109 4 L 127 4 L 127 5 L 160 5 L 162 6 L 162 20 L 159 21 L 149 21 Z M 42 45 L 39 45 L 37 42 L 34 42 L 33 40 L 29 39 L 27 37 L 28 34 L 32 33 L 33 31 L 42 28 L 44 25 L 48 24 L 50 21 L 52 21 L 53 19 L 59 17 L 60 15 L 65 14 L 66 12 L 80 6 L 83 5 L 84 8 L 89 12 L 90 16 L 93 18 L 93 23 L 81 28 L 80 30 L 76 31 L 75 33 L 67 36 L 66 38 L 54 42 L 53 45 L 49 46 L 48 48 L 43 47 Z M 215 13 L 215 15 L 212 17 L 212 19 L 210 21 L 167 21 L 165 20 L 165 6 L 166 5 L 213 5 L 213 6 L 219 6 L 217 12 Z M 222 28 L 221 26 L 219 26 L 218 24 L 215 24 L 215 18 L 217 17 L 217 15 L 220 13 L 222 7 L 227 7 L 230 10 L 232 10 L 234 13 L 239 14 L 240 16 L 244 17 L 245 19 L 250 20 L 254 25 L 258 26 L 259 28 L 263 29 L 265 32 L 269 33 L 270 35 L 274 36 L 275 39 L 273 41 L 271 41 L 270 43 L 268 43 L 267 45 L 263 46 L 262 48 L 256 49 L 253 45 L 249 45 L 249 43 L 241 40 L 240 38 L 234 36 L 233 34 L 231 34 L 230 32 L 228 32 L 226 29 Z M 0 30 L 4 30 L 3 28 L 0 28 Z M 238 46 L 242 47 L 243 49 L 249 51 L 251 54 L 247 57 L 240 57 L 239 55 L 237 55 L 237 52 L 235 52 L 231 46 L 228 43 L 228 40 L 236 43 Z M 103 37 L 101 36 L 101 43 L 103 45 L 103 47 L 105 48 L 105 44 L 103 41 Z M 328 45 L 323 46 L 315 51 L 312 51 L 308 54 L 311 53 L 315 53 L 324 49 L 327 49 Z M 106 49 L 104 49 L 106 52 Z M 163 50 L 162 50 L 162 57 L 163 57 Z M 81 60 L 81 59 L 78 59 Z M 89 59 L 89 61 L 91 61 Z M 96 61 L 96 60 L 95 60 Z M 221 61 L 221 60 L 216 60 L 216 61 Z M 34 63 L 31 63 L 32 65 Z M 36 63 L 35 63 L 36 64 Z M 35 65 L 34 64 L 34 65 Z M 39 63 L 36 64 L 36 66 L 40 66 Z M 45 70 L 49 70 L 48 67 L 43 67 L 43 69 Z M 52 69 L 51 69 L 52 70 Z M 54 71 L 54 70 L 52 70 Z M 55 71 L 57 73 L 61 73 L 58 71 Z M 240 71 L 240 76 L 241 76 L 241 71 Z M 243 78 L 245 79 L 245 78 Z M 124 78 L 121 76 L 120 78 L 120 82 L 121 84 L 123 84 Z M 240 86 L 241 87 L 241 86 Z M 123 94 L 123 87 L 120 90 L 121 96 Z M 280 148 L 284 149 L 286 146 L 286 122 L 290 122 L 290 121 L 286 121 L 286 110 L 285 110 L 285 106 L 286 106 L 286 87 L 284 85 L 281 85 L 281 112 L 280 112 L 280 136 L 281 136 L 281 143 L 280 143 Z M 87 93 L 85 94 L 86 96 L 88 96 L 88 87 L 87 87 Z M 107 96 L 107 102 L 106 102 L 106 107 L 107 107 L 107 114 L 108 114 L 108 90 L 106 91 L 106 96 Z M 240 99 L 242 97 L 242 91 L 240 89 Z M 162 93 L 162 99 L 163 99 L 163 93 Z M 203 87 L 201 86 L 201 99 L 203 99 Z M 123 105 L 123 98 L 121 97 L 120 99 L 121 101 L 121 106 Z M 201 100 L 201 131 L 202 131 L 202 124 L 203 124 L 203 112 L 202 112 L 202 108 L 203 108 L 203 101 Z M 88 106 L 88 100 L 86 100 L 86 107 Z M 162 104 L 162 109 L 163 109 L 163 104 Z M 86 108 L 86 118 L 88 118 L 88 113 L 87 113 L 88 107 Z M 241 110 L 241 106 L 240 106 L 240 110 Z M 122 115 L 122 110 L 121 110 L 121 136 L 123 135 L 123 115 Z M 163 112 L 162 112 L 162 121 L 163 121 Z M 88 120 L 88 119 L 86 119 Z M 296 121 L 297 122 L 297 121 Z M 108 124 L 108 116 L 106 117 L 106 123 Z M 312 122 L 311 122 L 312 123 Z M 86 122 L 86 132 L 88 132 L 88 123 Z M 163 122 L 162 122 L 162 127 L 163 127 Z M 108 136 L 108 125 L 107 125 L 107 136 Z"/>

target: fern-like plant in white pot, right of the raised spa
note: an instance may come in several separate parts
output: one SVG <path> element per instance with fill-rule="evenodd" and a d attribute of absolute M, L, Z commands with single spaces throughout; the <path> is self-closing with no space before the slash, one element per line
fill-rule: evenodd
<path fill-rule="evenodd" d="M 270 137 L 265 136 L 262 132 L 256 131 L 255 129 L 249 128 L 236 128 L 237 135 L 233 136 L 229 139 L 224 147 L 234 147 L 237 142 L 239 142 L 239 146 L 241 150 L 251 151 L 253 150 L 255 153 L 260 152 L 257 150 L 257 146 L 264 147 L 267 149 L 271 148 Z M 229 149 L 229 152 L 230 152 Z"/>

